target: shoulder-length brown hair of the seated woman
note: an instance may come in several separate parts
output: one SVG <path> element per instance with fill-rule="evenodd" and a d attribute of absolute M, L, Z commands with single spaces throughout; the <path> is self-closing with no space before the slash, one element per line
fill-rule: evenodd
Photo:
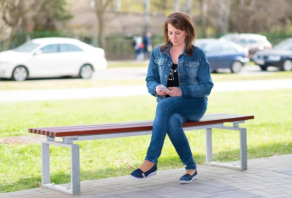
<path fill-rule="evenodd" d="M 178 30 L 185 31 L 185 48 L 187 49 L 187 55 L 192 55 L 192 44 L 196 39 L 196 32 L 192 18 L 183 12 L 172 12 L 167 16 L 164 21 L 164 44 L 159 47 L 162 50 L 167 49 L 171 43 L 168 37 L 168 24 L 171 24 Z"/>

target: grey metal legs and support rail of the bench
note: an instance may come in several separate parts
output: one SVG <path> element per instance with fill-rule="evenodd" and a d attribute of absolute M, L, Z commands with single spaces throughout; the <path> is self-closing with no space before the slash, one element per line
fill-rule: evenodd
<path fill-rule="evenodd" d="M 224 126 L 224 123 L 214 125 L 202 125 L 202 126 L 188 126 L 183 127 L 186 130 L 198 130 L 205 129 L 206 140 L 206 164 L 233 168 L 237 170 L 247 170 L 247 134 L 246 128 L 239 127 L 239 123 L 245 121 L 232 122 L 233 126 Z M 212 153 L 212 128 L 226 129 L 226 130 L 238 130 L 240 137 L 240 165 L 230 163 L 213 162 Z M 80 157 L 79 157 L 79 144 L 73 144 L 76 141 L 84 140 L 96 140 L 96 139 L 108 139 L 119 138 L 129 136 L 150 135 L 152 130 L 148 131 L 135 131 L 135 132 L 120 132 L 109 134 L 96 134 L 96 135 L 78 135 L 78 136 L 64 136 L 62 142 L 56 141 L 55 137 L 47 136 L 47 140 L 41 140 L 41 172 L 42 172 L 42 186 L 71 195 L 80 194 Z M 50 178 L 50 144 L 56 146 L 64 146 L 70 148 L 71 156 L 71 187 L 55 185 L 51 183 Z"/>

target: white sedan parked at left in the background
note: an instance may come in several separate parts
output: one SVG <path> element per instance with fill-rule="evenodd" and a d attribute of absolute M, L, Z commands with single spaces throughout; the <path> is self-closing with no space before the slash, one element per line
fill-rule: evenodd
<path fill-rule="evenodd" d="M 91 78 L 105 70 L 105 51 L 73 38 L 36 38 L 0 53 L 0 77 L 27 78 L 79 76 Z"/>

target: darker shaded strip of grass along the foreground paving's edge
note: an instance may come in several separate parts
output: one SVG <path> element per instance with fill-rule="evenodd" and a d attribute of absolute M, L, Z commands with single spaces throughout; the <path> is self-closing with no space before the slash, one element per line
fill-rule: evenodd
<path fill-rule="evenodd" d="M 239 147 L 239 145 L 238 145 Z M 292 144 L 287 143 L 278 143 L 278 144 L 267 144 L 264 146 L 258 147 L 249 147 L 248 148 L 248 159 L 256 159 L 262 157 L 270 157 L 274 155 L 286 155 L 292 153 Z M 198 154 L 194 155 L 194 159 L 197 165 L 205 164 L 205 155 Z M 216 152 L 213 151 L 213 161 L 220 161 L 220 162 L 233 162 L 238 161 L 239 158 L 239 148 Z M 142 162 L 142 161 L 141 161 Z M 130 174 L 134 169 L 139 167 L 140 164 L 134 164 L 135 167 L 119 167 L 119 168 L 107 168 L 102 170 L 90 170 L 90 171 L 80 171 L 80 180 L 98 180 L 104 178 L 112 178 L 112 177 L 119 177 L 119 176 L 126 176 Z M 172 155 L 170 157 L 162 156 L 159 158 L 159 170 L 166 170 L 166 169 L 175 169 L 175 168 L 183 168 L 184 165 L 181 162 L 178 156 Z M 54 182 L 55 184 L 64 184 L 71 182 L 71 174 L 68 173 L 69 170 L 58 172 L 58 173 L 51 173 L 51 183 Z M 39 182 L 41 186 L 41 175 L 39 170 L 39 177 L 33 178 L 20 178 L 18 181 L 11 182 L 9 184 L 0 184 L 0 193 L 6 192 L 13 192 L 19 190 L 27 190 L 32 188 L 37 188 L 36 182 Z"/>

